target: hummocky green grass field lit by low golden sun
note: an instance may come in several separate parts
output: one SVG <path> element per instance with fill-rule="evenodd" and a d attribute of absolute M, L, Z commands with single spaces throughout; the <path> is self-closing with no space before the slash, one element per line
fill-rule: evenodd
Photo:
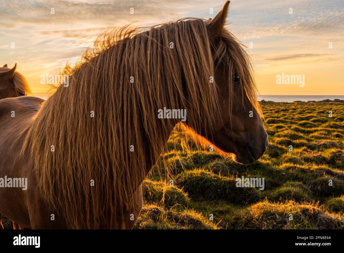
<path fill-rule="evenodd" d="M 135 229 L 343 229 L 344 104 L 263 102 L 262 108 L 269 147 L 250 165 L 204 151 L 174 131 L 164 159 L 142 184 Z M 241 176 L 265 178 L 265 189 L 237 188 Z"/>

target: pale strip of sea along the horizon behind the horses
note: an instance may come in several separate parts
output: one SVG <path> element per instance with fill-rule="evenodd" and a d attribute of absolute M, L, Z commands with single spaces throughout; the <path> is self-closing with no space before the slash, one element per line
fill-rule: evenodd
<path fill-rule="evenodd" d="M 39 97 L 42 99 L 47 99 L 47 95 L 45 93 L 35 93 L 33 94 L 35 97 Z M 341 99 L 344 100 L 344 96 L 305 96 L 305 95 L 260 95 L 258 100 L 261 101 L 264 99 L 265 101 L 274 101 L 274 102 L 294 102 L 294 101 L 321 101 L 324 99 Z"/>

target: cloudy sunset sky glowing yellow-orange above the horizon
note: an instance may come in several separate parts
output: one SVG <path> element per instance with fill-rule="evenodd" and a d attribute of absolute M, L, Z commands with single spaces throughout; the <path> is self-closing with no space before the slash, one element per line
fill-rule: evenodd
<path fill-rule="evenodd" d="M 213 18 L 224 3 L 0 0 L 0 65 L 17 63 L 33 95 L 45 94 L 50 87 L 41 84 L 41 75 L 76 62 L 106 29 L 133 21 L 151 26 L 183 17 Z M 261 95 L 344 95 L 343 0 L 232 0 L 227 22 L 247 46 Z M 278 84 L 278 75 L 301 75 L 304 83 Z"/>

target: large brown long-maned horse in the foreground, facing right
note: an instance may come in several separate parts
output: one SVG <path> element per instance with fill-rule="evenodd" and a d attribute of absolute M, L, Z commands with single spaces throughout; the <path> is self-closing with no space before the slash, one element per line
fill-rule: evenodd
<path fill-rule="evenodd" d="M 32 229 L 132 228 L 141 183 L 181 122 L 159 118 L 164 107 L 186 109 L 182 124 L 235 161 L 259 159 L 267 133 L 228 5 L 213 20 L 108 31 L 65 68 L 68 87 L 0 100 L 0 177 L 28 180 L 0 188 L 0 212 Z"/>

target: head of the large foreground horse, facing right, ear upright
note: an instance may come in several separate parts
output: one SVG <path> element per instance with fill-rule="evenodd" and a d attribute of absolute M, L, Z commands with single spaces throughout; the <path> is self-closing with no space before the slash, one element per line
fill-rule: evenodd
<path fill-rule="evenodd" d="M 204 127 L 196 133 L 214 144 L 220 153 L 232 153 L 236 162 L 249 164 L 266 151 L 268 135 L 261 120 L 250 57 L 225 28 L 228 7 L 229 1 L 214 19 L 204 21 L 214 61 L 214 99 L 218 100 L 218 108 L 214 109 L 212 132 Z"/>

